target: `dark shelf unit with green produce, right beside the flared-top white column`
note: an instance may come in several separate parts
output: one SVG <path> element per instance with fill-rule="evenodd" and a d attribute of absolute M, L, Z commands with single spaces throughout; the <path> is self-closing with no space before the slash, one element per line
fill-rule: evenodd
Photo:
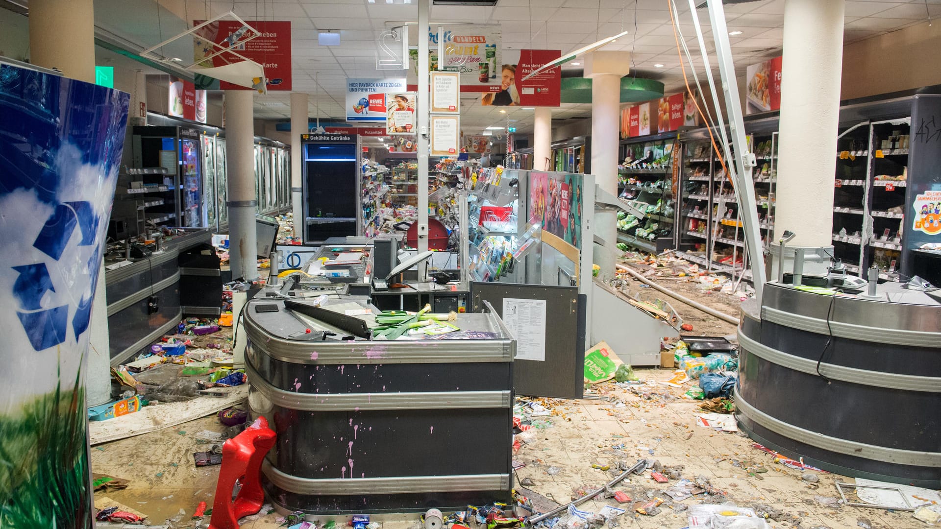
<path fill-rule="evenodd" d="M 618 197 L 633 201 L 645 216 L 617 214 L 619 243 L 651 253 L 674 246 L 676 153 L 676 135 L 622 141 Z"/>

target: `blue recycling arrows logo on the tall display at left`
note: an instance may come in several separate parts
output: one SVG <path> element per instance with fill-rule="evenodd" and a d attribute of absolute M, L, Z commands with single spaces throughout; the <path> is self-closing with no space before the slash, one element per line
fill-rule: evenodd
<path fill-rule="evenodd" d="M 65 202 L 56 205 L 52 215 L 46 219 L 39 235 L 33 242 L 54 261 L 59 261 L 66 246 L 72 240 L 76 228 L 82 240 L 78 246 L 95 245 L 95 233 L 98 232 L 99 217 L 95 215 L 88 201 Z M 101 250 L 95 248 L 86 263 L 91 288 L 78 303 L 72 316 L 72 331 L 75 339 L 88 329 L 91 320 L 91 300 L 98 282 L 98 262 Z M 37 351 L 65 342 L 68 330 L 69 306 L 52 308 L 42 307 L 42 297 L 46 291 L 56 292 L 56 287 L 45 263 L 13 266 L 19 277 L 13 283 L 13 297 L 20 302 L 17 316 L 26 332 L 30 345 Z"/>

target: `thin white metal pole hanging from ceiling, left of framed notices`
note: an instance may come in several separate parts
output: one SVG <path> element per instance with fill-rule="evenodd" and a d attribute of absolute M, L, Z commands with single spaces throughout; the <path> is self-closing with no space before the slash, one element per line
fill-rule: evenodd
<path fill-rule="evenodd" d="M 418 0 L 418 252 L 428 251 L 428 0 Z M 418 281 L 428 278 L 428 262 L 418 265 Z"/>

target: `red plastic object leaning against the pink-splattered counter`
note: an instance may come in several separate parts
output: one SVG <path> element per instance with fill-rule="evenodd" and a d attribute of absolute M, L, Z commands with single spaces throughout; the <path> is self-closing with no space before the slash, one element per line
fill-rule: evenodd
<path fill-rule="evenodd" d="M 238 529 L 240 518 L 262 510 L 262 461 L 274 445 L 275 432 L 268 427 L 264 417 L 259 417 L 245 431 L 222 445 L 222 467 L 215 485 L 209 529 Z M 241 480 L 242 489 L 232 500 L 236 480 Z"/>

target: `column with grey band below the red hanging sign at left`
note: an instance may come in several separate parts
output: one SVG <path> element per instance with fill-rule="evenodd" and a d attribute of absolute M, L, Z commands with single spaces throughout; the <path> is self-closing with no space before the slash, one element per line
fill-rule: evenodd
<path fill-rule="evenodd" d="M 251 90 L 226 90 L 226 167 L 229 171 L 229 266 L 232 279 L 258 278 L 255 212 L 254 108 Z"/>

